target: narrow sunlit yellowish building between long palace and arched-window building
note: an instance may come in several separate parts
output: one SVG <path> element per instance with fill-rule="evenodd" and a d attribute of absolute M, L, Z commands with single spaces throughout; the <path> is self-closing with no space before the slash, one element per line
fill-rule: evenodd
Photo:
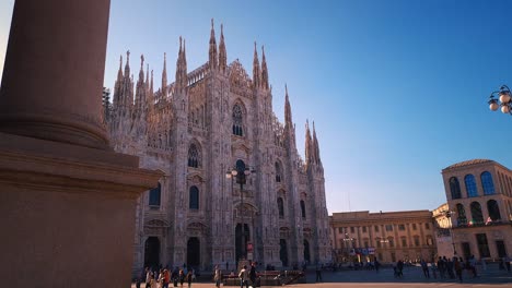
<path fill-rule="evenodd" d="M 438 256 L 452 257 L 454 255 L 453 233 L 452 233 L 452 213 L 447 203 L 442 204 L 432 211 L 432 217 L 435 224 L 435 243 L 438 247 Z"/>

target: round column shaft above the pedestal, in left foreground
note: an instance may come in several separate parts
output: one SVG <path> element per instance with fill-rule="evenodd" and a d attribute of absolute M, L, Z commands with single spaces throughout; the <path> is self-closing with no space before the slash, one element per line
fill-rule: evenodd
<path fill-rule="evenodd" d="M 0 131 L 107 148 L 101 95 L 109 2 L 15 1 Z"/>

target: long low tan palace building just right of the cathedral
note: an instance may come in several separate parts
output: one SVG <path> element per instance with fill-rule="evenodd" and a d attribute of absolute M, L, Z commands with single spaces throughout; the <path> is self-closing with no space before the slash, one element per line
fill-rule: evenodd
<path fill-rule="evenodd" d="M 430 211 L 334 213 L 330 240 L 338 262 L 431 261 L 437 255 Z"/>

